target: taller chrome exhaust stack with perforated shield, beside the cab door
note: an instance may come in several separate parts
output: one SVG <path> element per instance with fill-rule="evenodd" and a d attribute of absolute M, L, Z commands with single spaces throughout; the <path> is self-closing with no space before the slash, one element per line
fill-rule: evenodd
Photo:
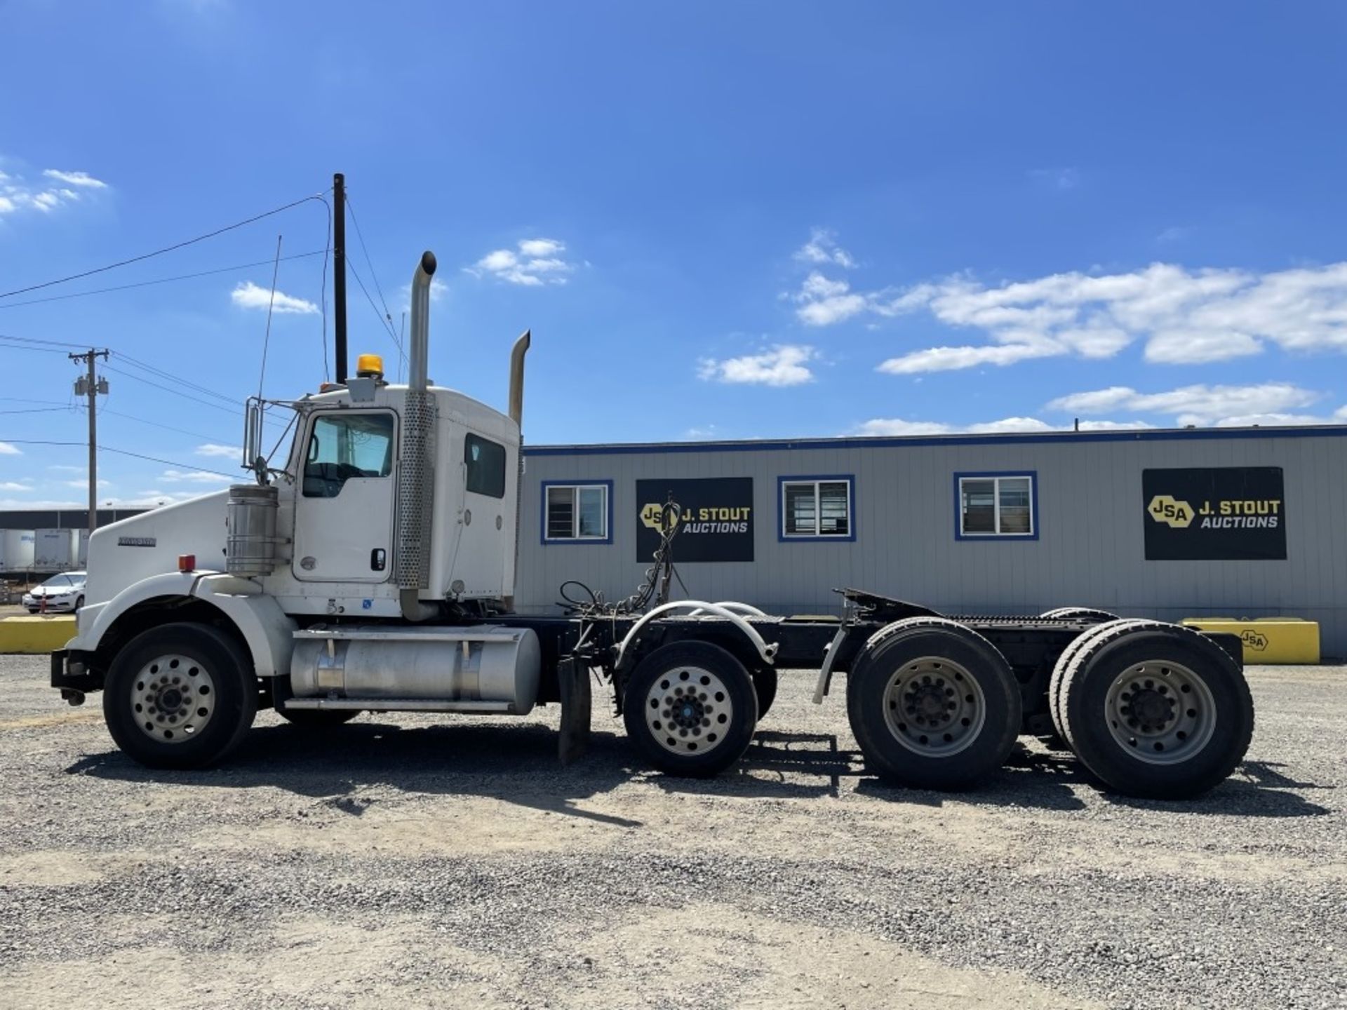
<path fill-rule="evenodd" d="M 422 253 L 412 275 L 412 338 L 403 409 L 403 448 L 397 469 L 397 541 L 393 578 L 397 601 L 408 621 L 436 617 L 439 609 L 423 603 L 430 583 L 431 489 L 435 483 L 435 399 L 427 392 L 430 358 L 430 283 L 435 253 Z"/>

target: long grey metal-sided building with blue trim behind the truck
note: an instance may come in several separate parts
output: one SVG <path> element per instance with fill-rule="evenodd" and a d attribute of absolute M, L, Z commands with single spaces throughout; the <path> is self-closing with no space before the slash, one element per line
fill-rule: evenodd
<path fill-rule="evenodd" d="M 696 599 L 1293 615 L 1347 656 L 1347 427 L 527 447 L 517 606 L 629 595 L 669 494 Z"/>

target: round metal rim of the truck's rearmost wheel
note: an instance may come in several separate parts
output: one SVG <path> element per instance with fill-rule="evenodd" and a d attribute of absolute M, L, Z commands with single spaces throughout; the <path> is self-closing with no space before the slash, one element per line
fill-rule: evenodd
<path fill-rule="evenodd" d="M 1207 681 L 1168 660 L 1127 667 L 1114 677 L 1103 707 L 1118 746 L 1148 765 L 1187 761 L 1216 731 L 1216 704 Z"/>

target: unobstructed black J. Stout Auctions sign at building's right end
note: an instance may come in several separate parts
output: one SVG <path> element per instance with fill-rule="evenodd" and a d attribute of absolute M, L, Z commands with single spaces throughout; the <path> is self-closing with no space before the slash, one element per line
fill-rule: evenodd
<path fill-rule="evenodd" d="M 1146 560 L 1285 560 L 1280 466 L 1145 470 Z"/>

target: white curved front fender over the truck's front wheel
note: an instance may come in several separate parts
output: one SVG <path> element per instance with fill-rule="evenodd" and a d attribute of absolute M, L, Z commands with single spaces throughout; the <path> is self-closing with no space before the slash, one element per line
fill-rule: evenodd
<path fill-rule="evenodd" d="M 257 676 L 290 673 L 295 621 L 273 597 L 263 595 L 257 583 L 218 572 L 152 575 L 127 586 L 105 603 L 85 606 L 79 611 L 78 634 L 66 644 L 66 650 L 97 652 L 112 626 L 132 607 L 156 598 L 183 597 L 210 603 L 238 629 Z"/>

